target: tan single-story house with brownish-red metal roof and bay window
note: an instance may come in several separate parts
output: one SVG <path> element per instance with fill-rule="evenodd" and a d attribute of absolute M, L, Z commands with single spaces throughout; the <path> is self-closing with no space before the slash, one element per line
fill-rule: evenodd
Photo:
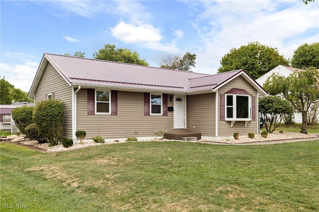
<path fill-rule="evenodd" d="M 244 70 L 208 75 L 43 55 L 29 98 L 64 102 L 63 138 L 154 139 L 155 131 L 202 139 L 258 133 L 258 97 L 266 91 Z"/>

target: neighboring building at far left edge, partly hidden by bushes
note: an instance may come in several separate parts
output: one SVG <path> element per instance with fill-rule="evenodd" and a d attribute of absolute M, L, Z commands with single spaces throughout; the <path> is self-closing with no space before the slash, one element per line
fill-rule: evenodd
<path fill-rule="evenodd" d="M 10 105 L 0 105 L 0 130 L 16 133 L 18 130 L 11 119 L 11 111 L 16 107 L 33 106 L 30 102 L 14 102 Z"/>

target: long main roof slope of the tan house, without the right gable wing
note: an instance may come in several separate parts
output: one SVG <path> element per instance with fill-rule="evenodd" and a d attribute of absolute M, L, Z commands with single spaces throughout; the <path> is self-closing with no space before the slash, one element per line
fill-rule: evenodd
<path fill-rule="evenodd" d="M 44 54 L 72 83 L 186 91 L 188 79 L 203 73 L 160 69 L 87 58 Z"/>

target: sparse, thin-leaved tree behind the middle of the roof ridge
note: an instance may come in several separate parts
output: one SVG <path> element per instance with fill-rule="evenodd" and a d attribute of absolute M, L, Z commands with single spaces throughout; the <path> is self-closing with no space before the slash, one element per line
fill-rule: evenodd
<path fill-rule="evenodd" d="M 191 67 L 195 67 L 196 55 L 186 52 L 183 56 L 166 56 L 160 61 L 160 68 L 173 69 L 180 71 L 192 71 Z"/>

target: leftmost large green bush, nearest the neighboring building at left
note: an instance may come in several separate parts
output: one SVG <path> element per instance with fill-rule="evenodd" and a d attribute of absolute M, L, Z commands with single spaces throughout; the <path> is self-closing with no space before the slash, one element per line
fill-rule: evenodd
<path fill-rule="evenodd" d="M 25 128 L 33 123 L 32 111 L 34 107 L 22 106 L 14 108 L 11 111 L 12 119 L 14 120 L 15 126 L 19 129 L 22 134 L 25 134 Z"/>

